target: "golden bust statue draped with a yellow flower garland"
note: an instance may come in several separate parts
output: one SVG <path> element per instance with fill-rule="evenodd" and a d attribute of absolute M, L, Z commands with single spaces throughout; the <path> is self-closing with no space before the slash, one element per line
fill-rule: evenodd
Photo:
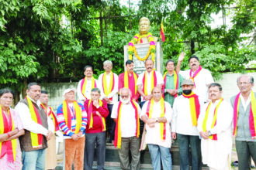
<path fill-rule="evenodd" d="M 151 59 L 154 62 L 154 53 L 155 53 L 155 42 L 157 41 L 157 37 L 152 36 L 150 32 L 148 32 L 150 29 L 150 20 L 146 17 L 142 17 L 140 19 L 140 34 L 136 34 L 133 39 L 129 42 L 128 45 L 128 54 L 129 59 L 133 59 L 133 53 L 134 56 L 137 57 L 140 61 L 146 60 L 150 55 Z M 140 57 L 137 54 L 137 50 L 135 48 L 135 44 L 142 44 L 142 43 L 150 43 L 150 47 L 147 52 L 147 56 Z"/>

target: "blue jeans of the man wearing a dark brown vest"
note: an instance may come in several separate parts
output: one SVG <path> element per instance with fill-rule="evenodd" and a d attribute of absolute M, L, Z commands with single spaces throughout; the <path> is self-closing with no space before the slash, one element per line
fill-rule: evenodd
<path fill-rule="evenodd" d="M 44 170 L 46 148 L 36 151 L 22 151 L 22 170 Z"/>

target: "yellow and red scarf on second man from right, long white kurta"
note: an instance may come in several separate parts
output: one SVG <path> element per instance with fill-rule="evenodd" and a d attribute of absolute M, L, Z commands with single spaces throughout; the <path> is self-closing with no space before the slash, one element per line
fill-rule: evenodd
<path fill-rule="evenodd" d="M 213 122 L 212 122 L 211 128 L 216 126 L 218 109 L 219 109 L 220 104 L 221 104 L 222 101 L 223 101 L 223 97 L 221 97 L 219 103 L 214 108 Z M 206 131 L 206 123 L 207 123 L 207 120 L 208 120 L 209 107 L 211 106 L 211 104 L 212 104 L 212 102 L 209 102 L 208 106 L 206 107 L 206 115 L 205 115 L 205 117 L 202 121 L 202 131 Z M 209 136 L 209 139 L 212 139 L 212 140 L 216 141 L 217 140 L 217 134 L 213 134 L 212 136 Z"/>

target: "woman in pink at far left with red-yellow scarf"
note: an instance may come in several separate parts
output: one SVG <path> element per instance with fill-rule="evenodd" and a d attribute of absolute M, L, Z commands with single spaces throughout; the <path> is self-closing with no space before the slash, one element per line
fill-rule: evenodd
<path fill-rule="evenodd" d="M 13 92 L 8 88 L 0 90 L 0 167 L 21 169 L 19 136 L 25 133 L 19 115 L 10 108 Z"/>

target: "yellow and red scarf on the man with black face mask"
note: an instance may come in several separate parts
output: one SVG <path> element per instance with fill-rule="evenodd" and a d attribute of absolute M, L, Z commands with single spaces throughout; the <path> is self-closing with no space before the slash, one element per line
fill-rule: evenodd
<path fill-rule="evenodd" d="M 199 97 L 194 92 L 190 93 L 189 95 L 185 95 L 185 93 L 182 93 L 182 95 L 183 97 L 189 99 L 192 126 L 197 126 L 197 119 L 199 118 L 200 114 Z"/>

